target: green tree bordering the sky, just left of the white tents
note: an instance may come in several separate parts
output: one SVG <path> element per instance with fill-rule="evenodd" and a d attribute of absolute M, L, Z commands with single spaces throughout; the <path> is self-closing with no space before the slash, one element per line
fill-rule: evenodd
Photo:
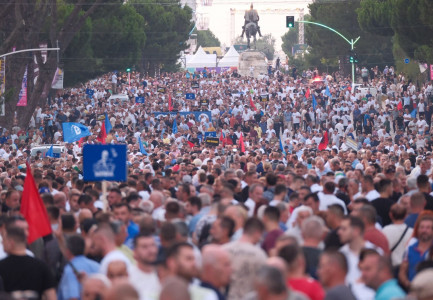
<path fill-rule="evenodd" d="M 133 0 L 131 5 L 144 18 L 147 40 L 140 68 L 154 74 L 156 69 L 174 70 L 180 52 L 187 48 L 193 28 L 192 10 L 176 0 Z"/>

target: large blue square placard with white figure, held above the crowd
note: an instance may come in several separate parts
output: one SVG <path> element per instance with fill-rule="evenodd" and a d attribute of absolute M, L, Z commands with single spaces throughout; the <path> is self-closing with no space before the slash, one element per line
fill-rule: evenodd
<path fill-rule="evenodd" d="M 85 181 L 126 181 L 126 145 L 84 145 Z"/>

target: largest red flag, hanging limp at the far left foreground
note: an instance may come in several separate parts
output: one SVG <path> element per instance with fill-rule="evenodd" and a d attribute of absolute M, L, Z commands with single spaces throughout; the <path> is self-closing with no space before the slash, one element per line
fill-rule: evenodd
<path fill-rule="evenodd" d="M 27 241 L 33 243 L 38 238 L 50 234 L 51 224 L 48 213 L 36 188 L 30 165 L 27 163 L 26 179 L 21 197 L 20 212 L 29 224 L 29 236 Z"/>

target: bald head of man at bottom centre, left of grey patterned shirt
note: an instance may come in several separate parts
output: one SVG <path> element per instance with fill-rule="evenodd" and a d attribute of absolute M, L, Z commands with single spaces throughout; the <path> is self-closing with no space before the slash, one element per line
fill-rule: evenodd
<path fill-rule="evenodd" d="M 220 291 L 230 282 L 231 263 L 229 253 L 219 245 L 207 245 L 202 252 L 201 286 L 213 290 L 219 300 L 226 296 Z"/>

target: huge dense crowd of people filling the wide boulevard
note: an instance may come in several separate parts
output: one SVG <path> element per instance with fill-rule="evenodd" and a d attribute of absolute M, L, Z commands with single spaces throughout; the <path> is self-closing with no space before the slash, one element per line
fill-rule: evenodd
<path fill-rule="evenodd" d="M 107 74 L 2 129 L 2 299 L 433 299 L 431 82 L 290 70 Z M 128 150 L 106 193 L 100 143 Z M 52 228 L 31 244 L 28 167 Z"/>

